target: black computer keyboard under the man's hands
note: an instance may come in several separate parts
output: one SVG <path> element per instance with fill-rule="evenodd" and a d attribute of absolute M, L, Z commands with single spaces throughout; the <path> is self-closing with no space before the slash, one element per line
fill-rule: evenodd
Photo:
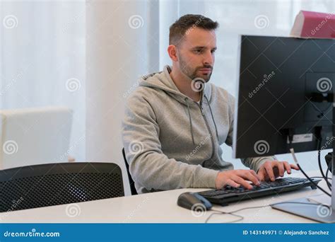
<path fill-rule="evenodd" d="M 312 179 L 316 184 L 320 179 Z M 316 186 L 305 178 L 279 178 L 273 182 L 261 182 L 258 187 L 254 185 L 252 190 L 247 188 L 233 188 L 227 186 L 221 190 L 207 190 L 204 192 L 197 192 L 199 195 L 205 197 L 209 202 L 214 204 L 228 205 L 229 202 L 240 202 L 242 200 L 249 200 L 254 197 L 264 197 L 267 195 L 277 195 L 282 192 L 298 190 L 305 187 L 316 189 Z"/>

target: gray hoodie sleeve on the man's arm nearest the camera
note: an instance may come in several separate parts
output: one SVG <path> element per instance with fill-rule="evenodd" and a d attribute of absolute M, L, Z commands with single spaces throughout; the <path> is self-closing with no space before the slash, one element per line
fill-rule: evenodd
<path fill-rule="evenodd" d="M 169 159 L 162 152 L 160 127 L 151 104 L 139 94 L 127 100 L 122 142 L 136 185 L 147 190 L 215 188 L 218 171 Z"/>

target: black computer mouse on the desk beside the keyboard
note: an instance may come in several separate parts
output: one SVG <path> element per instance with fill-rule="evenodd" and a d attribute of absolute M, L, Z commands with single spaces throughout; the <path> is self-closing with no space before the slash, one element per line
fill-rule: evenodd
<path fill-rule="evenodd" d="M 177 204 L 180 207 L 184 207 L 189 210 L 206 209 L 209 210 L 212 207 L 211 202 L 206 198 L 194 192 L 184 192 L 177 200 Z"/>

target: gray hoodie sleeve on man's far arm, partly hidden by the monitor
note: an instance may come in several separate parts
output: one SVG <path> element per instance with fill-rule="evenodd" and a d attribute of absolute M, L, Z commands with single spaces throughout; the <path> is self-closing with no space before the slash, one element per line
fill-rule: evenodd
<path fill-rule="evenodd" d="M 234 112 L 235 112 L 235 98 L 230 95 L 229 97 L 229 105 L 230 105 L 230 127 L 227 139 L 225 140 L 225 144 L 229 146 L 233 146 L 233 127 L 234 127 Z M 276 156 L 261 156 L 261 157 L 252 157 L 241 159 L 243 165 L 249 167 L 254 171 L 258 171 L 261 165 L 263 165 L 266 161 L 275 161 Z"/>

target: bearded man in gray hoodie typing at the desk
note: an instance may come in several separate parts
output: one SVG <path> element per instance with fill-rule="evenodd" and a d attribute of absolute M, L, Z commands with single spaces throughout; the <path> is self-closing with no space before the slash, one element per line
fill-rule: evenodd
<path fill-rule="evenodd" d="M 249 181 L 275 180 L 298 167 L 274 156 L 242 159 L 250 170 L 233 170 L 221 144 L 233 143 L 235 100 L 208 83 L 218 23 L 182 16 L 170 27 L 172 68 L 141 79 L 127 100 L 122 140 L 139 193 L 177 188 L 251 189 Z M 199 81 L 203 81 L 201 83 Z"/>

